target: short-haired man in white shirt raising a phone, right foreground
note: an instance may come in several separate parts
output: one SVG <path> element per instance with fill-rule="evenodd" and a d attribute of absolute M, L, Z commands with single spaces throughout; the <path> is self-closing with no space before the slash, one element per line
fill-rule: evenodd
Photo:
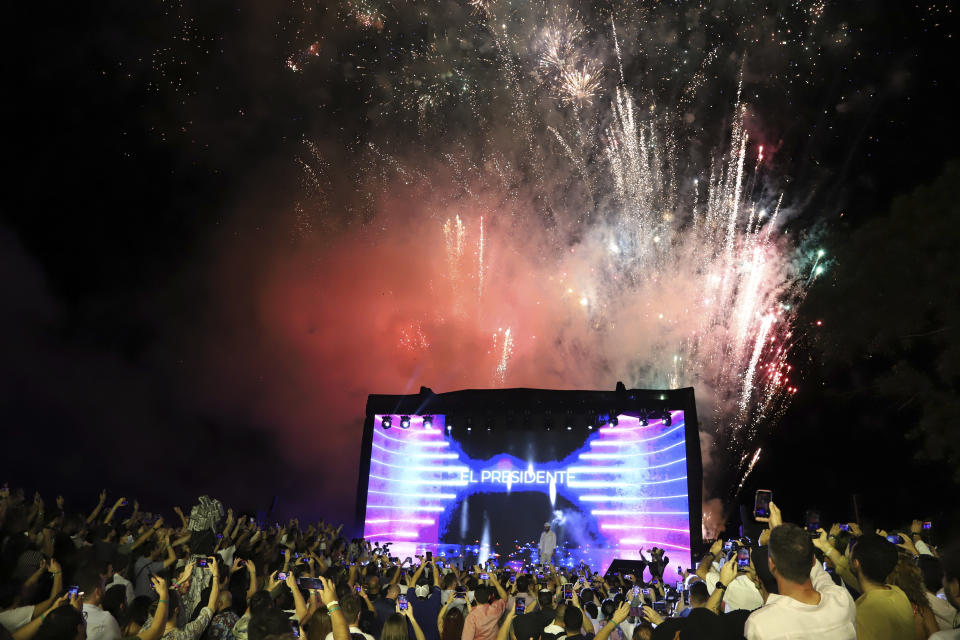
<path fill-rule="evenodd" d="M 853 598 L 816 562 L 806 531 L 793 524 L 773 528 L 767 564 L 780 593 L 770 594 L 767 603 L 747 618 L 747 640 L 856 639 Z"/>

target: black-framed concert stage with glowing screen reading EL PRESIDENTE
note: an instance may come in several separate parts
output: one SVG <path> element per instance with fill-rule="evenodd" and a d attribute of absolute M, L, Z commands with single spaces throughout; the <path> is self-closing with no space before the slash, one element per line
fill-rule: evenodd
<path fill-rule="evenodd" d="M 550 522 L 555 564 L 660 547 L 673 580 L 701 542 L 696 425 L 693 389 L 371 395 L 357 530 L 400 558 L 516 568 Z"/>

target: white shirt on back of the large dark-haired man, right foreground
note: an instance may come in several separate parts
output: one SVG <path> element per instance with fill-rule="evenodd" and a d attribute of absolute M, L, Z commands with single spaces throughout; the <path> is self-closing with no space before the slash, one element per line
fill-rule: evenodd
<path fill-rule="evenodd" d="M 814 565 L 810 575 L 820 593 L 819 604 L 804 604 L 788 596 L 770 594 L 767 604 L 747 618 L 748 640 L 854 640 L 857 638 L 857 608 L 844 587 Z M 911 629 L 912 638 L 913 631 Z"/>

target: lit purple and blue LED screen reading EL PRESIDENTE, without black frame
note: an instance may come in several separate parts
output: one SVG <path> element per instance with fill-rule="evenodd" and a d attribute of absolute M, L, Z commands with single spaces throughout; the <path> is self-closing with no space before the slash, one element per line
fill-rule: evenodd
<path fill-rule="evenodd" d="M 666 550 L 689 566 L 686 428 L 682 411 L 647 425 L 618 416 L 616 426 L 552 432 L 432 425 L 408 429 L 375 416 L 364 537 L 391 542 L 391 555 L 426 550 L 447 558 L 538 562 L 550 522 L 554 563 L 583 560 L 605 569 L 643 548 Z M 449 428 L 448 428 L 449 427 Z"/>

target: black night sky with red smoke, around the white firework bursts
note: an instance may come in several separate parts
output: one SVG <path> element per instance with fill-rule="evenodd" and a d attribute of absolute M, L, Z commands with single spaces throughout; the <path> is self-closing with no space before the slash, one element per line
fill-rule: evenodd
<path fill-rule="evenodd" d="M 421 336 L 400 317 L 456 294 L 430 257 L 443 221 L 487 212 L 492 273 L 511 274 L 485 285 L 495 310 L 527 309 L 547 285 L 523 274 L 549 273 L 600 224 L 569 205 L 589 198 L 550 127 L 606 122 L 612 18 L 638 102 L 687 118 L 687 166 L 723 143 L 742 70 L 749 161 L 766 148 L 753 195 L 786 194 L 791 246 L 828 256 L 794 321 L 798 391 L 748 438 L 764 454 L 741 495 L 774 489 L 825 518 L 852 517 L 853 493 L 891 518 L 942 512 L 960 480 L 960 458 L 942 457 L 960 453 L 957 436 L 931 426 L 960 420 L 956 164 L 937 183 L 956 162 L 948 4 L 575 4 L 577 47 L 603 67 L 576 108 L 523 45 L 560 15 L 551 6 L 11 6 L 26 35 L 5 56 L 0 480 L 84 506 L 106 486 L 157 505 L 203 492 L 264 509 L 277 495 L 289 514 L 348 518 L 368 393 L 501 386 L 488 366 L 499 318 Z M 521 100 L 539 118 L 526 129 Z M 509 223 L 490 223 L 508 191 Z M 529 255 L 496 253 L 518 230 Z M 505 386 L 660 382 L 587 353 L 563 318 L 524 320 L 553 342 L 518 342 Z M 723 443 L 737 438 L 714 435 L 717 464 L 736 468 Z M 734 475 L 714 474 L 711 493 L 735 514 Z"/>

